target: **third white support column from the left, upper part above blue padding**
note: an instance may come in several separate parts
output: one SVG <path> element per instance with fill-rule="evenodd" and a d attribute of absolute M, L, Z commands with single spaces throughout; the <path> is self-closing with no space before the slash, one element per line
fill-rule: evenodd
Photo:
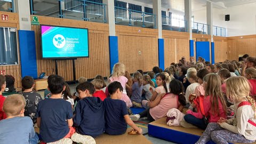
<path fill-rule="evenodd" d="M 158 38 L 162 38 L 162 4 L 161 0 L 153 0 L 153 13 L 156 15 L 156 28 L 158 29 Z"/>

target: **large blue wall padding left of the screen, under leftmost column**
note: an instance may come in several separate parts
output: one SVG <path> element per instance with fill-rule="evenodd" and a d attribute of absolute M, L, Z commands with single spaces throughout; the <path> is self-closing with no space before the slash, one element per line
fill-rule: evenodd
<path fill-rule="evenodd" d="M 20 44 L 21 77 L 37 78 L 35 32 L 18 30 Z"/>

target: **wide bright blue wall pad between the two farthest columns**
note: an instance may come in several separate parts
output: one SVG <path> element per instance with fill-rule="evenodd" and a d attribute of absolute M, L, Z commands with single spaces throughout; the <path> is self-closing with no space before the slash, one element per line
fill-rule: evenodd
<path fill-rule="evenodd" d="M 210 61 L 210 43 L 209 42 L 196 42 L 196 60 L 202 57 L 205 61 Z"/>

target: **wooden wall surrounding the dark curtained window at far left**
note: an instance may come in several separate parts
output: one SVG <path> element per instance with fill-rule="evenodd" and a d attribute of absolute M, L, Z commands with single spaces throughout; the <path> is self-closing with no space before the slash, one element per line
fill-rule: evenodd
<path fill-rule="evenodd" d="M 19 52 L 19 14 L 12 13 L 12 12 L 2 12 L 0 11 L 0 15 L 7 14 L 9 19 L 3 21 L 2 18 L 0 19 L 0 27 L 14 27 L 17 28 L 17 49 Z M 21 90 L 21 68 L 20 68 L 20 56 L 18 55 L 18 65 L 7 65 L 7 66 L 0 66 L 0 70 L 5 70 L 6 75 L 12 75 L 15 78 L 14 87 L 18 88 L 17 90 Z"/>

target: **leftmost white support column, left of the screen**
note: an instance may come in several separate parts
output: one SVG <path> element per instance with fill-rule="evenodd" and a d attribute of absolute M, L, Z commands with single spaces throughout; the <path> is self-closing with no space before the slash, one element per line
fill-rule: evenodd
<path fill-rule="evenodd" d="M 31 30 L 29 0 L 14 0 L 15 12 L 19 13 L 20 30 Z"/>

